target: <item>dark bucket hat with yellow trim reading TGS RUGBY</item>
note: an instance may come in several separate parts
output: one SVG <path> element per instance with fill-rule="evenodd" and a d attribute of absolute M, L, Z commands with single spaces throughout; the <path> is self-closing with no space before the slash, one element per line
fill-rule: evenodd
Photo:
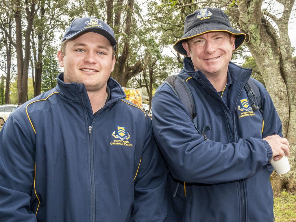
<path fill-rule="evenodd" d="M 187 56 L 182 42 L 207 32 L 228 32 L 235 35 L 235 50 L 237 50 L 246 39 L 246 34 L 231 27 L 229 17 L 218 8 L 197 9 L 185 17 L 184 35 L 176 41 L 173 48 L 181 55 Z"/>

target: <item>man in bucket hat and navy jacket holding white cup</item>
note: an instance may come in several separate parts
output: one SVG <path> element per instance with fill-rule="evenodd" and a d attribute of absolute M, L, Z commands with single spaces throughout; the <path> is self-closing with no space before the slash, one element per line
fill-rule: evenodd
<path fill-rule="evenodd" d="M 220 9 L 185 19 L 174 49 L 187 57 L 179 74 L 192 92 L 198 133 L 173 90 L 161 85 L 152 100 L 155 139 L 170 169 L 168 221 L 273 221 L 268 160 L 289 156 L 281 121 L 258 85 L 263 113 L 250 107 L 244 85 L 252 70 L 230 62 L 245 34 Z M 272 135 L 272 136 L 271 136 Z"/>

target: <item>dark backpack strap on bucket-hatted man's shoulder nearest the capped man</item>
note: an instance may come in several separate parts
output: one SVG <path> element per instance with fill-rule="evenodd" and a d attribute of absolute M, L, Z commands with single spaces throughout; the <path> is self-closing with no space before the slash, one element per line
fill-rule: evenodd
<path fill-rule="evenodd" d="M 165 79 L 164 83 L 170 86 L 170 88 L 173 90 L 176 96 L 178 96 L 181 102 L 184 104 L 197 132 L 202 136 L 204 136 L 206 140 L 208 140 L 207 136 L 205 135 L 205 132 L 210 130 L 211 128 L 210 126 L 207 125 L 202 129 L 202 132 L 198 130 L 197 115 L 196 115 L 194 100 L 192 97 L 192 93 L 189 87 L 187 86 L 187 84 L 185 83 L 185 81 L 182 78 L 180 78 L 178 75 L 170 75 L 168 76 L 168 78 Z"/>

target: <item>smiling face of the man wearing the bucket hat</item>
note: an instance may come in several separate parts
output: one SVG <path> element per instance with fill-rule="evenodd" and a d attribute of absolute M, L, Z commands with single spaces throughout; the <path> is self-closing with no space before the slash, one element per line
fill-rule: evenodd
<path fill-rule="evenodd" d="M 183 47 L 194 70 L 201 70 L 206 76 L 219 75 L 227 73 L 234 40 L 234 35 L 225 32 L 209 32 L 183 42 Z"/>

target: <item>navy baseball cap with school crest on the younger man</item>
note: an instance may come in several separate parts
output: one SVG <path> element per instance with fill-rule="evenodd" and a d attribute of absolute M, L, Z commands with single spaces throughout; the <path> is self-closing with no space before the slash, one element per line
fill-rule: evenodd
<path fill-rule="evenodd" d="M 110 41 L 114 49 L 117 45 L 113 29 L 102 20 L 94 17 L 74 19 L 69 28 L 67 28 L 62 42 L 66 39 L 73 39 L 83 32 L 96 32 L 101 34 Z"/>

